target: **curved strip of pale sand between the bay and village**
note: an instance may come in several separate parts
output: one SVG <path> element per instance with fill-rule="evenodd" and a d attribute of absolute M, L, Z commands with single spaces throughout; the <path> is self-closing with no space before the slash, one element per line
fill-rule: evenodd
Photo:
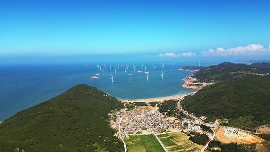
<path fill-rule="evenodd" d="M 180 95 L 173 95 L 173 96 L 164 96 L 164 97 L 156 97 L 156 98 L 144 98 L 144 99 L 119 99 L 122 102 L 160 102 L 160 101 L 165 101 L 165 100 L 171 100 L 171 99 L 180 99 L 182 97 L 185 97 L 187 95 L 191 95 L 193 93 L 188 93 L 188 94 L 180 94 Z"/>

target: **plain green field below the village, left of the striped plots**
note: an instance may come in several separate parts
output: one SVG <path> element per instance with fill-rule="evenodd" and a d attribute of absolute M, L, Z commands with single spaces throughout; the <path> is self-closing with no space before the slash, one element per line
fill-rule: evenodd
<path fill-rule="evenodd" d="M 130 135 L 125 140 L 128 152 L 163 152 L 162 146 L 159 144 L 153 134 L 149 135 Z"/>

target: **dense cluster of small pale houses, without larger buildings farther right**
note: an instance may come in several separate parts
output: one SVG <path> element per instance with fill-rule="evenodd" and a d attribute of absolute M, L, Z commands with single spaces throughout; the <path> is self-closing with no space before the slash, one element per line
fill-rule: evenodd
<path fill-rule="evenodd" d="M 140 131 L 162 133 L 171 129 L 179 130 L 179 124 L 175 124 L 175 120 L 166 119 L 155 110 L 122 111 L 116 113 L 116 116 L 116 120 L 111 121 L 111 126 L 119 130 L 122 137 L 128 137 Z"/>

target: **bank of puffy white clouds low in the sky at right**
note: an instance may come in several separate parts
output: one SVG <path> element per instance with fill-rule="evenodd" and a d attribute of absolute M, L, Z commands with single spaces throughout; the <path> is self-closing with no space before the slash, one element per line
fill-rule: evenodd
<path fill-rule="evenodd" d="M 247 46 L 238 46 L 235 48 L 224 49 L 222 47 L 201 51 L 204 56 L 237 56 L 237 55 L 265 55 L 270 54 L 269 48 L 264 48 L 260 44 L 249 44 Z"/>

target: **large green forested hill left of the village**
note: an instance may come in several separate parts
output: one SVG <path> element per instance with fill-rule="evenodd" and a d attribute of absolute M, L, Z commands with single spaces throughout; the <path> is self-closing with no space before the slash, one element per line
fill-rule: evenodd
<path fill-rule="evenodd" d="M 0 123 L 0 151 L 123 151 L 108 113 L 123 108 L 95 87 L 77 85 Z"/>

